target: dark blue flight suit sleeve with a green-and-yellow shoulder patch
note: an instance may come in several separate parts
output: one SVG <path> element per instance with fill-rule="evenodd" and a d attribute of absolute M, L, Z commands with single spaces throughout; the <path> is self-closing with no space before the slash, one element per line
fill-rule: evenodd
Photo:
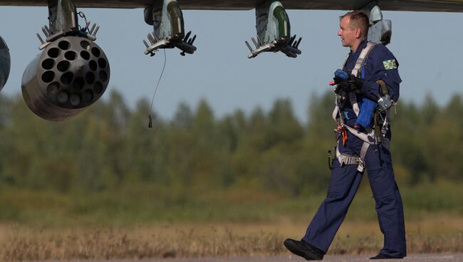
<path fill-rule="evenodd" d="M 387 85 L 387 92 L 390 97 L 397 102 L 400 95 L 400 83 L 402 82 L 398 67 L 397 59 L 385 46 L 375 46 L 363 66 L 362 93 L 374 101 L 378 100 L 381 95 L 380 86 L 376 81 L 383 80 Z"/>

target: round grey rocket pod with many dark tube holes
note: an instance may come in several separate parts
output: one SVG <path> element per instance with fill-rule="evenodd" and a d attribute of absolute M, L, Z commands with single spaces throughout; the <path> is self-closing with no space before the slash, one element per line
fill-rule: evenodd
<path fill-rule="evenodd" d="M 29 63 L 21 89 L 36 115 L 61 121 L 95 103 L 109 78 L 108 58 L 96 43 L 66 36 L 50 43 Z"/>

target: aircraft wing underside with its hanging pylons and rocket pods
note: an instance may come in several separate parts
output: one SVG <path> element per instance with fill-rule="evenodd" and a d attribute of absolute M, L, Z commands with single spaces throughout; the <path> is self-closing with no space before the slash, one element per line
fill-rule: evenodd
<path fill-rule="evenodd" d="M 251 42 L 245 41 L 250 51 L 248 58 L 264 52 L 283 53 L 290 58 L 301 55 L 298 47 L 302 38 L 291 34 L 286 9 L 364 11 L 371 24 L 368 40 L 384 45 L 390 43 L 392 25 L 390 20 L 383 19 L 381 10 L 463 11 L 463 0 L 16 0 L 0 1 L 0 5 L 48 6 L 48 14 L 43 14 L 48 16 L 48 26 L 41 28 L 42 36 L 37 34 L 41 54 L 24 71 L 21 90 L 28 107 L 51 121 L 77 115 L 95 103 L 109 83 L 108 58 L 95 43 L 99 26 L 87 22 L 78 11 L 80 7 L 144 8 L 145 23 L 152 26 L 152 31 L 142 43 L 145 54 L 150 56 L 162 48 L 178 48 L 182 56 L 197 50 L 196 35 L 184 29 L 182 9 L 256 9 L 256 36 Z M 0 36 L 0 90 L 9 77 L 9 70 L 9 49 Z"/>

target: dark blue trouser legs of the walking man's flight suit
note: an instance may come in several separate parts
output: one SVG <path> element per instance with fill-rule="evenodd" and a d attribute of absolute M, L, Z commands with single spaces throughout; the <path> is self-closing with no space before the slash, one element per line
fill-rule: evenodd
<path fill-rule="evenodd" d="M 359 155 L 362 145 L 363 141 L 350 133 L 345 146 L 338 142 L 340 152 L 351 155 Z M 402 199 L 394 179 L 390 151 L 383 145 L 370 146 L 365 155 L 365 167 L 376 201 L 380 229 L 385 239 L 380 252 L 390 256 L 406 256 Z M 324 252 L 328 251 L 357 192 L 362 175 L 357 171 L 356 165 L 341 167 L 338 159 L 333 160 L 328 194 L 309 224 L 306 235 L 303 236 L 304 241 Z"/>

